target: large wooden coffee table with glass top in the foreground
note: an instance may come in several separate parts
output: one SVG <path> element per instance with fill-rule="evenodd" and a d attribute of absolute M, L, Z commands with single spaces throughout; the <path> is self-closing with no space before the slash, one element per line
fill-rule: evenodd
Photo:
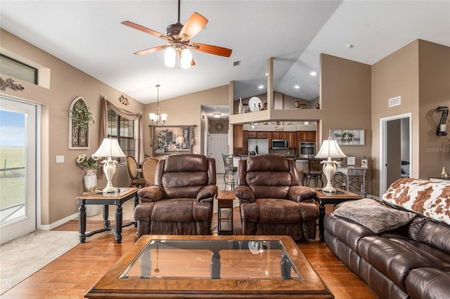
<path fill-rule="evenodd" d="M 86 298 L 334 298 L 288 236 L 144 235 Z"/>

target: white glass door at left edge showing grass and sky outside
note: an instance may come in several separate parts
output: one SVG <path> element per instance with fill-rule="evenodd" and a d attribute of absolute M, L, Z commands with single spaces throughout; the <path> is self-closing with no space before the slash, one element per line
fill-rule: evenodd
<path fill-rule="evenodd" d="M 0 244 L 36 230 L 37 111 L 0 97 Z"/>

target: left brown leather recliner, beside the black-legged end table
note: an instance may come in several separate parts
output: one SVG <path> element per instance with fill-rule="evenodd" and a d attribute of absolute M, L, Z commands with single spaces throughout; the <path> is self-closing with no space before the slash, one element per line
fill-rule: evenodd
<path fill-rule="evenodd" d="M 139 190 L 134 210 L 143 234 L 211 234 L 216 161 L 203 154 L 172 154 L 158 163 L 155 185 Z"/>

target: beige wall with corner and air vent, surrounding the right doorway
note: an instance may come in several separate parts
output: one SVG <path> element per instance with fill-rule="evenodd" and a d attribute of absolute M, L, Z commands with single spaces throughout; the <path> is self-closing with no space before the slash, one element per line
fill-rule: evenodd
<path fill-rule="evenodd" d="M 436 135 L 439 106 L 450 107 L 450 48 L 416 40 L 372 66 L 373 190 L 379 193 L 380 119 L 412 115 L 411 177 L 439 176 L 450 168 L 450 140 Z M 401 105 L 387 101 L 401 95 Z"/>

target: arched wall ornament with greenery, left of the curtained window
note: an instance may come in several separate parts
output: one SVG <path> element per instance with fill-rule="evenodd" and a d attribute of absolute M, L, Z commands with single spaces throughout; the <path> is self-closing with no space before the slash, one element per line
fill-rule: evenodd
<path fill-rule="evenodd" d="M 72 100 L 69 107 L 69 149 L 89 149 L 89 126 L 94 124 L 89 107 L 82 97 Z"/>

